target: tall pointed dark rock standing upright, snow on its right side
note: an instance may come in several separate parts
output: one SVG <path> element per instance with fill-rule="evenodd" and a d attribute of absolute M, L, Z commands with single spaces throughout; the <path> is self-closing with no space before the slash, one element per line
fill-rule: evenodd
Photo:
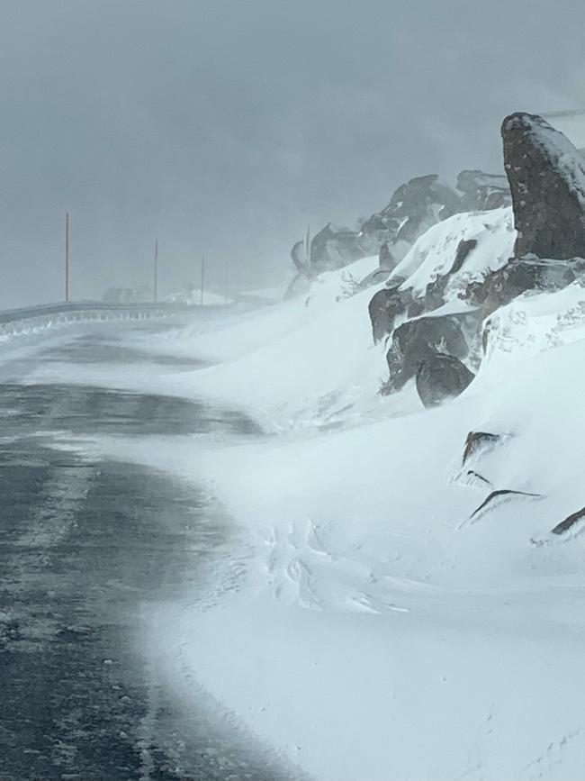
<path fill-rule="evenodd" d="M 516 258 L 585 257 L 585 159 L 535 114 L 511 114 L 501 128 L 518 239 Z"/>

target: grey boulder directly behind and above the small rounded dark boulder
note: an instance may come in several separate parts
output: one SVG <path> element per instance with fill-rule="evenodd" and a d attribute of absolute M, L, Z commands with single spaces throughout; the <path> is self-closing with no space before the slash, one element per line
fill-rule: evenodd
<path fill-rule="evenodd" d="M 461 324 L 453 315 L 419 317 L 394 329 L 386 354 L 393 388 L 399 390 L 416 375 L 424 360 L 439 351 L 458 359 L 465 358 L 469 351 Z"/>

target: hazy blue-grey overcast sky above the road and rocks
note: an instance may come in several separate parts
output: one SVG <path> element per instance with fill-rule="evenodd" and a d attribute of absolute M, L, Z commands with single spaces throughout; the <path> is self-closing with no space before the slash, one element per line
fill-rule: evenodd
<path fill-rule="evenodd" d="M 509 111 L 585 105 L 582 0 L 0 0 L 0 306 L 282 278 L 307 222 L 500 167 Z M 582 123 L 562 129 L 585 143 Z M 581 138 L 579 137 L 581 133 Z"/>

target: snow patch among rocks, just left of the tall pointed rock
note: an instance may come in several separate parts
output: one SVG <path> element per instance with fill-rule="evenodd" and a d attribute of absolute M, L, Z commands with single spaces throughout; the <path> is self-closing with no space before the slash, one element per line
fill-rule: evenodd
<path fill-rule="evenodd" d="M 412 288 L 415 295 L 424 293 L 430 282 L 451 270 L 459 242 L 471 240 L 477 241 L 477 246 L 463 268 L 450 278 L 446 297 L 455 297 L 464 286 L 501 268 L 512 257 L 516 232 L 511 207 L 454 214 L 438 222 L 413 244 L 392 277 L 406 277 L 402 289 Z"/>

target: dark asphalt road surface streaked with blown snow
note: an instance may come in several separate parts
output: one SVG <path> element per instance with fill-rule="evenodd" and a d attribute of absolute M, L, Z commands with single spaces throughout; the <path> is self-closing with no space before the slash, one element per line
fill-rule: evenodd
<path fill-rule="evenodd" d="M 180 702 L 151 652 L 151 608 L 210 598 L 211 574 L 229 577 L 229 519 L 193 486 L 57 441 L 241 438 L 255 424 L 166 395 L 31 380 L 49 364 L 99 366 L 113 385 L 121 368 L 193 370 L 123 343 L 169 327 L 72 326 L 24 338 L 0 366 L 2 781 L 293 777 L 202 693 Z"/>

